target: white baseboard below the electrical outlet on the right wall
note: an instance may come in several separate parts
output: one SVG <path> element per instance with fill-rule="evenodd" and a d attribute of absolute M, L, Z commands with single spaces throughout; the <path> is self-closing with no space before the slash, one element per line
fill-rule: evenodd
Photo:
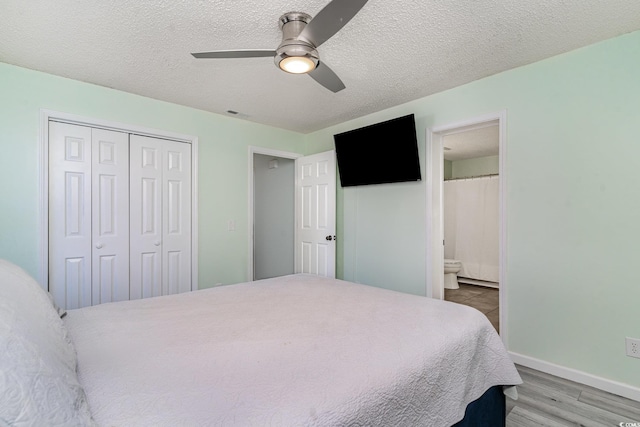
<path fill-rule="evenodd" d="M 597 377 L 586 372 L 556 365 L 550 362 L 545 362 L 544 360 L 524 356 L 512 351 L 509 352 L 509 355 L 511 356 L 511 360 L 513 360 L 513 363 L 516 363 L 518 365 L 546 372 L 547 374 L 555 375 L 557 377 L 564 378 L 570 381 L 575 381 L 580 384 L 599 388 L 600 390 L 604 390 L 609 393 L 617 394 L 618 396 L 626 397 L 627 399 L 632 399 L 640 402 L 640 388 L 638 387 L 634 387 L 632 385 L 624 384 L 618 381 L 608 380 L 602 377 Z"/>

